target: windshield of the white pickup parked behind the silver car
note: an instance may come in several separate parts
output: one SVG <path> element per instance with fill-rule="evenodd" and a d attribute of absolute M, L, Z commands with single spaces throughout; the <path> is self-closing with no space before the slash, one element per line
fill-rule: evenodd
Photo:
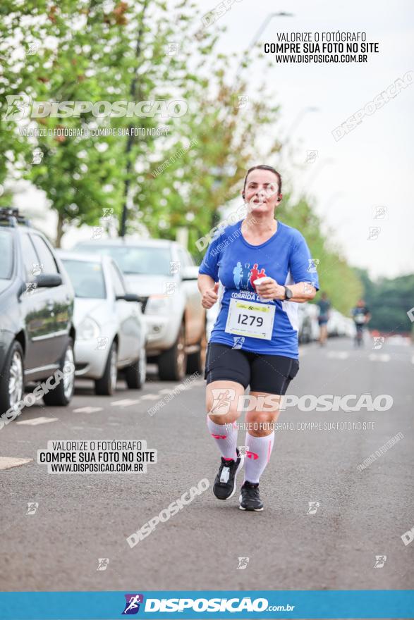
<path fill-rule="evenodd" d="M 111 256 L 127 275 L 171 275 L 171 254 L 166 248 L 82 244 L 78 249 Z"/>

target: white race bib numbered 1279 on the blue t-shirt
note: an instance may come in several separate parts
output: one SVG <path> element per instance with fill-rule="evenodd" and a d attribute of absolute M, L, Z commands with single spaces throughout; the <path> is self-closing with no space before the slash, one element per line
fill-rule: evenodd
<path fill-rule="evenodd" d="M 274 304 L 255 304 L 245 299 L 231 299 L 226 329 L 229 334 L 272 340 Z"/>

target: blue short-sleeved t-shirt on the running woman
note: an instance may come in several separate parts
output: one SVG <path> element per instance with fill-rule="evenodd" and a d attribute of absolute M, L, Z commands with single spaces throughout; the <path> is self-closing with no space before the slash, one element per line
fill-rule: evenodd
<path fill-rule="evenodd" d="M 315 261 L 296 228 L 278 221 L 276 233 L 269 240 L 251 245 L 241 234 L 241 223 L 242 220 L 217 231 L 199 269 L 199 273 L 206 273 L 214 282 L 221 283 L 219 316 L 209 342 L 298 359 L 298 303 L 279 299 L 261 302 L 253 281 L 269 276 L 281 285 L 307 282 L 319 290 Z M 226 332 L 232 298 L 276 306 L 271 340 Z"/>

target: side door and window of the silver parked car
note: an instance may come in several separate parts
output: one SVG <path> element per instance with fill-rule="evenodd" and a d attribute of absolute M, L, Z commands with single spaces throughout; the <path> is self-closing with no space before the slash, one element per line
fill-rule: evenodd
<path fill-rule="evenodd" d="M 109 259 L 109 275 L 115 297 L 124 297 L 126 286 L 121 271 L 116 263 Z M 118 361 L 126 364 L 135 361 L 140 354 L 140 324 L 138 320 L 138 302 L 126 302 L 115 299 L 116 316 L 118 317 Z"/>

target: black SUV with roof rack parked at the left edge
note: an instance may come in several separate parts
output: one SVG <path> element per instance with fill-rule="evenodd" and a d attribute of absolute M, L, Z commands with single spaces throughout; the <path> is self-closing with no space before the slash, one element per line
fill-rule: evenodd
<path fill-rule="evenodd" d="M 42 396 L 45 404 L 66 405 L 75 340 L 68 275 L 17 209 L 0 209 L 0 256 L 0 414 L 20 402 L 27 383 L 63 373 L 65 365 Z"/>

